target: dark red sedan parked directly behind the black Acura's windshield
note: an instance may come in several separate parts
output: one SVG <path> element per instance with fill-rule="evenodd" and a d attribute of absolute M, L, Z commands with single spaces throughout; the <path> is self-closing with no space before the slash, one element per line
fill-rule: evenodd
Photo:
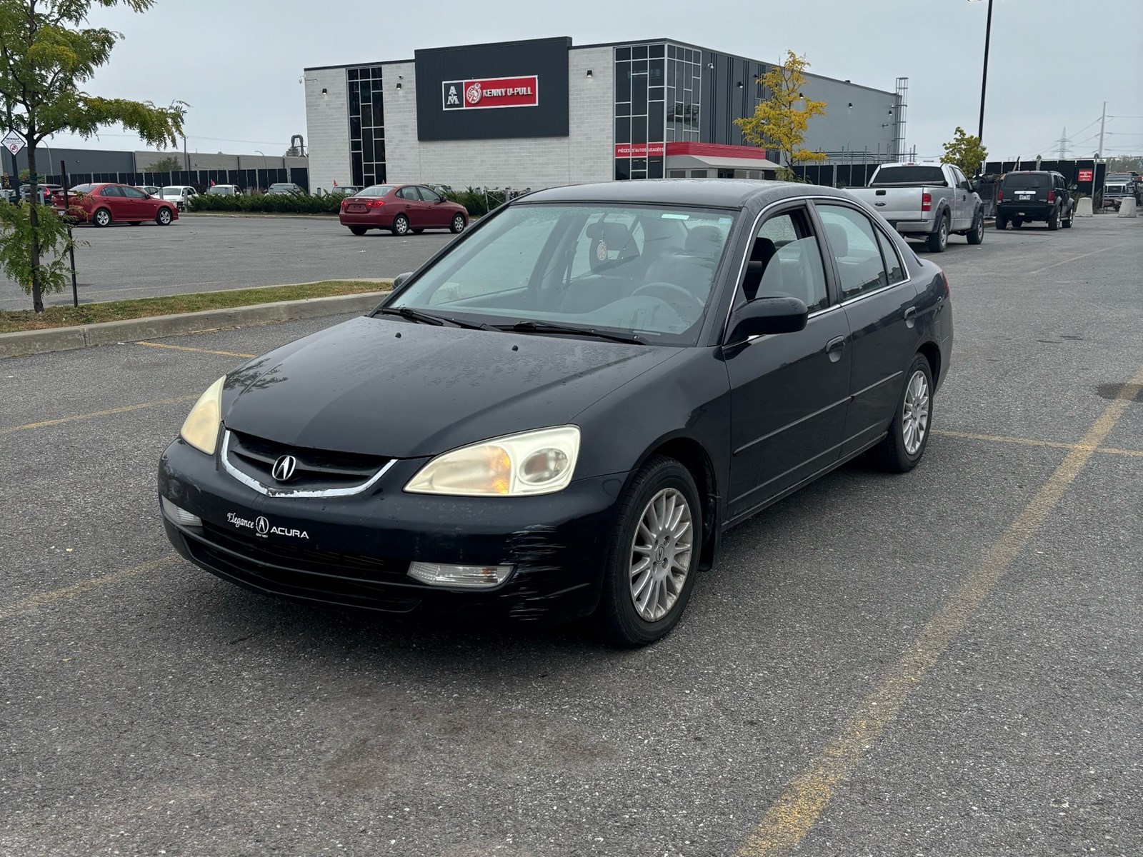
<path fill-rule="evenodd" d="M 338 219 L 354 235 L 390 230 L 394 235 L 425 230 L 464 232 L 469 211 L 423 184 L 375 184 L 342 200 Z"/>

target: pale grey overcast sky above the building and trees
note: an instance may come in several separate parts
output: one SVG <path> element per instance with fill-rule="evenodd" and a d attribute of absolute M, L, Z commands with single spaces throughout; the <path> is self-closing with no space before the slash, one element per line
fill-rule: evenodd
<path fill-rule="evenodd" d="M 957 125 L 975 134 L 988 1 L 158 0 L 142 15 L 93 13 L 93 25 L 125 38 L 88 89 L 186 102 L 190 151 L 281 154 L 291 134 L 305 134 L 305 66 L 553 35 L 576 45 L 672 38 L 764 62 L 791 48 L 817 74 L 879 89 L 908 77 L 908 145 L 935 157 Z M 1050 157 L 1064 127 L 1070 154 L 1090 157 L 1104 101 L 1104 153 L 1143 153 L 1143 0 L 994 0 L 992 157 Z M 122 128 L 54 142 L 142 147 Z"/>

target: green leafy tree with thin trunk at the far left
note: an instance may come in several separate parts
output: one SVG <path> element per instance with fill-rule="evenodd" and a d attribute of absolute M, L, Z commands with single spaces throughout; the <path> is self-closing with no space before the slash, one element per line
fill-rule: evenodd
<path fill-rule="evenodd" d="M 62 289 L 65 280 L 59 266 L 41 262 L 46 253 L 58 254 L 65 233 L 55 223 L 41 227 L 42 219 L 58 217 L 38 205 L 40 143 L 62 131 L 90 137 L 109 125 L 129 128 L 150 145 L 174 146 L 182 135 L 182 102 L 157 107 L 150 102 L 103 98 L 81 88 L 122 38 L 106 27 L 85 26 L 91 7 L 144 11 L 153 5 L 154 0 L 0 0 L 0 110 L 8 128 L 27 145 L 31 184 L 29 205 L 19 209 L 27 227 L 8 216 L 0 224 L 0 267 L 31 293 L 35 312 L 43 312 L 43 291 Z M 26 265 L 9 264 L 23 254 Z"/>

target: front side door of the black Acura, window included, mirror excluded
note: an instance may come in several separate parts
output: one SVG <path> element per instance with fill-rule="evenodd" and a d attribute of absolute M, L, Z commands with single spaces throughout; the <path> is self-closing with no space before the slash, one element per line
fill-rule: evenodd
<path fill-rule="evenodd" d="M 849 327 L 830 301 L 823 247 L 802 205 L 762 223 L 736 298 L 797 297 L 806 328 L 728 343 L 730 519 L 836 463 L 849 400 Z M 732 335 L 728 331 L 727 335 Z"/>

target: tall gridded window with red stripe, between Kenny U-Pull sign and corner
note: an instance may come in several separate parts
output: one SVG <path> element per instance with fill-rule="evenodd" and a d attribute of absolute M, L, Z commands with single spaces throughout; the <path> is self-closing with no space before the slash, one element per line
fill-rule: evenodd
<path fill-rule="evenodd" d="M 668 62 L 663 42 L 615 49 L 617 179 L 663 177 Z"/>

